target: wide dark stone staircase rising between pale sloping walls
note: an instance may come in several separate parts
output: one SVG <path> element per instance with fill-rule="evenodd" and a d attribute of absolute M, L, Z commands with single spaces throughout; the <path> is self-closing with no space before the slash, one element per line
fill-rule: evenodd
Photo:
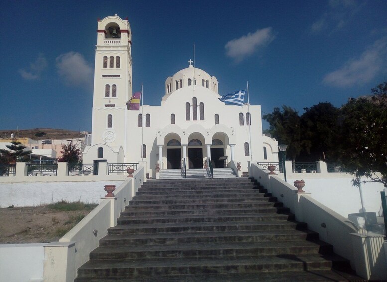
<path fill-rule="evenodd" d="M 332 249 L 254 180 L 151 180 L 75 281 L 363 281 Z"/>

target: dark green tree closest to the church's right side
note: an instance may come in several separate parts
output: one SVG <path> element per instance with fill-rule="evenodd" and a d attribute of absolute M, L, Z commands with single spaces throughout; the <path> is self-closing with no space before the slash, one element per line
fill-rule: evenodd
<path fill-rule="evenodd" d="M 263 119 L 270 124 L 270 133 L 279 144 L 287 144 L 286 155 L 293 163 L 301 150 L 309 150 L 310 142 L 303 137 L 301 130 L 301 118 L 298 112 L 288 106 L 283 105 L 282 111 L 274 108 L 271 114 L 266 114 Z"/>

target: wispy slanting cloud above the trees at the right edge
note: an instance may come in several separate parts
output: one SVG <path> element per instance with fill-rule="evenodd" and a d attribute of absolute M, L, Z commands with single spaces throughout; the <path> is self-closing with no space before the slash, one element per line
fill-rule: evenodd
<path fill-rule="evenodd" d="M 346 87 L 363 84 L 375 77 L 385 67 L 387 40 L 375 41 L 358 58 L 349 59 L 344 65 L 325 75 L 323 82 L 328 85 Z"/>

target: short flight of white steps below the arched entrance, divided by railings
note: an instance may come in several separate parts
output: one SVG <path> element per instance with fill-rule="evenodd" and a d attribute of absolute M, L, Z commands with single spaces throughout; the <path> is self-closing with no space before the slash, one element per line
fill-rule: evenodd
<path fill-rule="evenodd" d="M 214 178 L 236 177 L 231 168 L 214 168 Z M 208 178 L 204 168 L 191 168 L 186 170 L 186 178 Z M 181 179 L 181 169 L 161 169 L 160 179 Z"/>

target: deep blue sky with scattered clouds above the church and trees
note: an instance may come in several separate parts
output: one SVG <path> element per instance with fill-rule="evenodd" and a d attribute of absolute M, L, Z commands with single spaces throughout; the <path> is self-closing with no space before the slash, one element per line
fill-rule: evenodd
<path fill-rule="evenodd" d="M 339 107 L 387 81 L 386 0 L 3 0 L 0 129 L 91 130 L 97 19 L 128 17 L 134 91 L 160 105 L 193 59 L 270 113 Z M 267 123 L 264 124 L 267 128 Z"/>

